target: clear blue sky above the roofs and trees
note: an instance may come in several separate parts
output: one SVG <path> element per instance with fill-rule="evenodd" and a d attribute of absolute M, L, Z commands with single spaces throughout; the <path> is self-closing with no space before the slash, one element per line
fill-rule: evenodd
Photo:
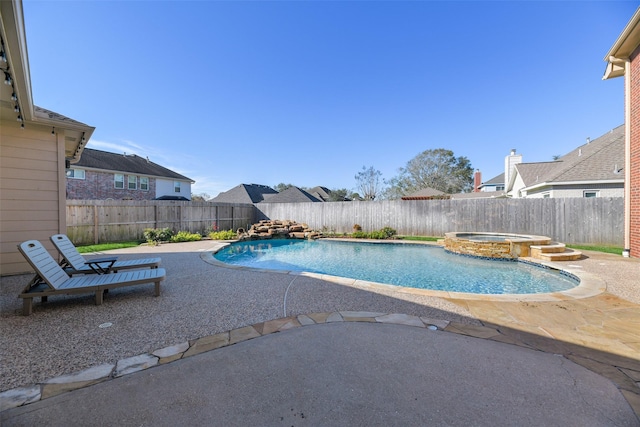
<path fill-rule="evenodd" d="M 447 148 L 498 175 L 624 122 L 603 57 L 637 2 L 35 1 L 36 105 L 216 196 L 355 190 Z"/>

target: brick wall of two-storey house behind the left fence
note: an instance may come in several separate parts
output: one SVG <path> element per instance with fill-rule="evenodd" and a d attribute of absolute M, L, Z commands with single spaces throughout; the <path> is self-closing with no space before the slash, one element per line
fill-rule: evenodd
<path fill-rule="evenodd" d="M 72 168 L 73 165 L 71 165 Z M 75 168 L 74 168 L 75 169 Z M 77 168 L 84 169 L 84 168 Z M 85 178 L 67 178 L 67 199 L 69 200 L 153 200 L 156 197 L 156 179 L 149 178 L 149 189 L 140 190 L 140 178 L 144 175 L 124 175 L 124 187 L 115 188 L 114 172 L 84 169 Z M 137 176 L 137 189 L 128 189 L 129 175 Z"/>

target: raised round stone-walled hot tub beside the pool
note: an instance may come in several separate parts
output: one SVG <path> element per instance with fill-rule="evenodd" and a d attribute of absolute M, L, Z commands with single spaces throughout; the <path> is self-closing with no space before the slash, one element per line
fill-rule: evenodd
<path fill-rule="evenodd" d="M 527 234 L 452 232 L 444 235 L 445 250 L 483 258 L 530 256 L 531 245 L 548 245 L 551 238 Z"/>

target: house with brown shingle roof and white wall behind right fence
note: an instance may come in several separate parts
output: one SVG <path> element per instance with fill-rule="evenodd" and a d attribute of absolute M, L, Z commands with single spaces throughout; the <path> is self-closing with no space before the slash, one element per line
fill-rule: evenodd
<path fill-rule="evenodd" d="M 516 164 L 508 197 L 622 197 L 624 134 L 622 125 L 556 161 Z"/>

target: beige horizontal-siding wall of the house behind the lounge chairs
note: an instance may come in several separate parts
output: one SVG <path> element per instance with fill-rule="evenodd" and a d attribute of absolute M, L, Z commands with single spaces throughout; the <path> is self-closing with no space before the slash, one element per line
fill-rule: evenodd
<path fill-rule="evenodd" d="M 66 232 L 64 134 L 2 121 L 0 152 L 0 274 L 29 272 L 17 245 L 37 239 L 57 257 L 49 237 Z"/>

